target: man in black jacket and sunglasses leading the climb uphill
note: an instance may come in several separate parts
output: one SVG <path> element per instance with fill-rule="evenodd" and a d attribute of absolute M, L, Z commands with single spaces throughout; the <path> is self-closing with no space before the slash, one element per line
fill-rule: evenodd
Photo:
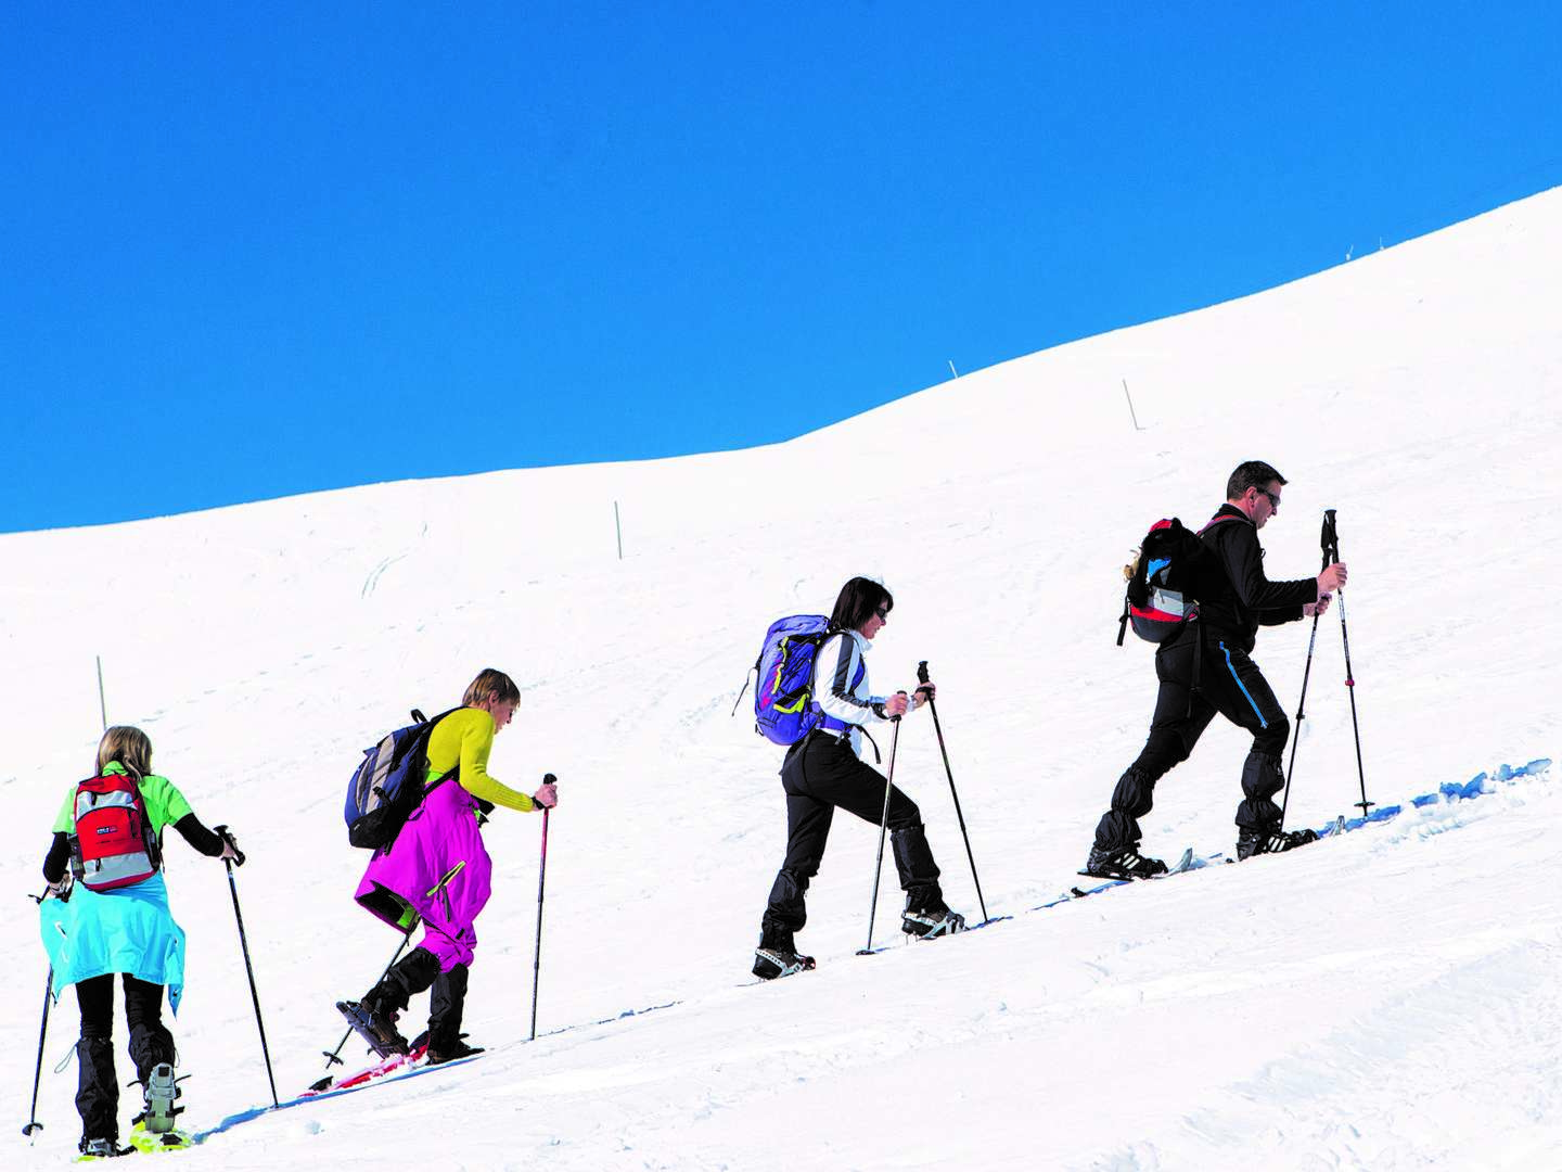
<path fill-rule="evenodd" d="M 1198 572 L 1198 617 L 1156 650 L 1161 691 L 1150 739 L 1112 791 L 1112 808 L 1095 828 L 1086 870 L 1101 878 L 1143 878 L 1167 867 L 1139 853 L 1139 819 L 1150 813 L 1156 781 L 1186 761 L 1200 734 L 1220 713 L 1253 733 L 1242 766 L 1237 806 L 1237 856 L 1250 858 L 1312 842 L 1311 830 L 1281 831 L 1273 797 L 1286 784 L 1281 752 L 1290 722 L 1259 666 L 1248 656 L 1257 628 L 1321 614 L 1345 584 L 1345 564 L 1317 578 L 1270 581 L 1264 577 L 1259 530 L 1279 511 L 1286 478 L 1261 459 L 1240 464 L 1226 481 L 1226 503 L 1200 531 L 1204 558 Z"/>

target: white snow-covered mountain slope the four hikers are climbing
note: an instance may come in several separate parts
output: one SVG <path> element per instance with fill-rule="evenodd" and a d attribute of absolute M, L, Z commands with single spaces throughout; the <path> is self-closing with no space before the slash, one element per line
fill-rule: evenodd
<path fill-rule="evenodd" d="M 1315 572 L 1320 511 L 1339 509 L 1370 797 L 1557 756 L 1557 272 L 1562 191 L 769 448 L 0 538 L 0 791 L 19 830 L 0 1039 L 17 1127 L 45 974 L 22 892 L 41 888 L 47 827 L 97 741 L 94 656 L 109 720 L 145 727 L 158 767 L 250 852 L 239 889 L 283 1091 L 320 1074 L 331 1002 L 397 944 L 350 900 L 364 859 L 337 811 L 358 750 L 492 664 L 525 691 L 495 774 L 531 788 L 553 770 L 564 800 L 545 1036 L 523 1041 L 539 824 L 501 816 L 467 1016 L 494 1053 L 234 1125 L 183 1163 L 1562 1167 L 1562 895 L 1546 878 L 1562 799 L 1546 775 L 1301 855 L 1029 911 L 1076 880 L 1148 724 L 1148 649 L 1114 647 L 1118 566 L 1156 517 L 1207 516 L 1242 459 L 1292 481 L 1264 531 L 1271 575 Z M 875 684 L 931 663 L 987 905 L 1014 919 L 854 956 L 876 828 L 843 816 L 801 938 L 818 972 L 744 988 L 784 813 L 779 753 L 728 711 L 765 624 L 826 609 L 858 572 L 897 597 Z M 1289 711 L 1306 638 L 1259 642 Z M 1357 800 L 1342 678 L 1331 614 L 1293 825 Z M 1229 849 L 1243 752 L 1212 728 L 1162 783 L 1147 849 Z M 903 730 L 897 780 L 973 913 L 925 717 Z M 203 1130 L 269 1095 L 222 870 L 170 855 L 191 933 L 175 1030 Z M 50 1074 L 73 1030 L 67 994 L 47 1130 L 16 1138 L 16 1164 L 73 1150 L 73 1067 Z"/>

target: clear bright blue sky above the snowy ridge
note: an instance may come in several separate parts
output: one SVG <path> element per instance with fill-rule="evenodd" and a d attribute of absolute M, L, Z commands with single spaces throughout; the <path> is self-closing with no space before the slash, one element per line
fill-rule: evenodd
<path fill-rule="evenodd" d="M 0 531 L 787 439 L 1562 183 L 1556 5 L 1256 8 L 8 5 Z"/>

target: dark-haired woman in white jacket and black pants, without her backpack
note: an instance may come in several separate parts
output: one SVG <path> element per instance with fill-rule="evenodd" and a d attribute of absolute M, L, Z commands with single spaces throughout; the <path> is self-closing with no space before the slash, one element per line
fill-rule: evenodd
<path fill-rule="evenodd" d="M 908 699 L 904 692 L 873 695 L 868 688 L 864 652 L 889 622 L 895 600 L 883 584 L 853 578 L 840 588 L 829 616 L 829 638 L 814 659 L 814 708 L 820 714 L 814 730 L 787 750 L 781 766 L 786 791 L 786 861 L 770 888 L 770 902 L 761 920 L 754 975 L 767 980 L 812 969 L 812 956 L 800 956 L 793 934 L 808 922 L 803 897 L 818 874 L 825 841 L 836 808 L 865 822 L 879 820 L 884 809 L 884 775 L 862 761 L 862 730 L 920 708 L 933 699 L 925 684 Z M 939 866 L 933 861 L 922 811 L 900 788 L 890 788 L 889 828 L 893 831 L 895 870 L 906 892 L 901 931 L 928 939 L 965 927 L 948 909 L 939 888 Z"/>

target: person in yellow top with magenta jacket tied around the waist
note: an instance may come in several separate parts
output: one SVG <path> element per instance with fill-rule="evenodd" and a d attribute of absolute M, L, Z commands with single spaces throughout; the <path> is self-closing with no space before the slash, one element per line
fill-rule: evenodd
<path fill-rule="evenodd" d="M 480 811 L 494 806 L 540 809 L 558 802 L 551 783 L 533 795 L 489 777 L 494 736 L 520 703 L 515 681 L 492 667 L 478 674 L 461 700 L 428 738 L 428 780 L 423 803 L 387 847 L 375 852 L 355 899 L 401 931 L 423 922 L 423 939 L 361 1002 L 342 1013 L 367 1024 L 370 1044 L 383 1053 L 406 1053 L 395 1027 L 408 1000 L 433 989 L 428 1017 L 428 1061 L 448 1063 L 476 1053 L 461 1036 L 467 969 L 478 936 L 473 927 L 489 899 L 492 863 L 483 845 Z"/>

